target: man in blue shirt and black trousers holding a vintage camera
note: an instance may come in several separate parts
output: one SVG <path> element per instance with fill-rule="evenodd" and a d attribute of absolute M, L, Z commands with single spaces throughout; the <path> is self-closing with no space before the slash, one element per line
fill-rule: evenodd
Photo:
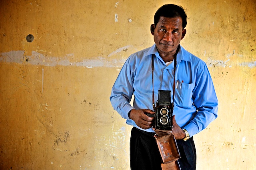
<path fill-rule="evenodd" d="M 150 28 L 155 44 L 130 55 L 112 88 L 112 106 L 128 125 L 134 126 L 130 139 L 132 170 L 161 169 L 154 138 L 157 131 L 152 128 L 154 117 L 150 116 L 154 115 L 153 83 L 155 99 L 158 90 L 170 90 L 174 94 L 172 134 L 180 150 L 182 170 L 196 168 L 193 136 L 217 117 L 218 100 L 206 64 L 180 46 L 186 35 L 186 20 L 180 6 L 168 4 L 159 8 Z M 133 106 L 129 104 L 132 95 Z"/>

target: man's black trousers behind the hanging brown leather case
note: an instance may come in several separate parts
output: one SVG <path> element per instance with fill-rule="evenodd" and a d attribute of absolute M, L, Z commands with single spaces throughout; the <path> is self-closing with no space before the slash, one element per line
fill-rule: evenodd
<path fill-rule="evenodd" d="M 155 133 L 145 132 L 133 127 L 130 139 L 131 170 L 161 170 L 160 156 Z M 187 141 L 176 140 L 181 158 L 178 160 L 182 170 L 196 169 L 196 148 L 193 137 Z"/>

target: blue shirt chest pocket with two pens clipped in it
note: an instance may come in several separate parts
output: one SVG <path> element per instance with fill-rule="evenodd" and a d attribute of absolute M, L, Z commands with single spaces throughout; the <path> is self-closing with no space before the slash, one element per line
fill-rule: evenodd
<path fill-rule="evenodd" d="M 179 86 L 175 89 L 174 104 L 183 108 L 191 108 L 193 105 L 193 89 L 193 83 L 182 83 L 181 88 Z"/>

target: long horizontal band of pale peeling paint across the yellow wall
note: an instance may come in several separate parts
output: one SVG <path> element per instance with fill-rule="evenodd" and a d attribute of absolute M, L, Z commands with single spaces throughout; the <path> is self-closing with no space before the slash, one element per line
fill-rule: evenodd
<path fill-rule="evenodd" d="M 132 45 L 126 45 L 124 47 L 118 48 L 112 53 L 108 55 L 108 57 L 118 54 L 123 51 L 127 51 L 128 49 L 134 47 Z M 74 54 L 67 54 L 64 57 L 45 57 L 43 54 L 39 53 L 38 51 L 32 51 L 32 55 L 26 55 L 26 58 L 29 60 L 24 63 L 26 58 L 24 58 L 25 51 L 9 51 L 0 53 L 0 62 L 4 63 L 18 63 L 18 64 L 31 64 L 31 65 L 45 65 L 54 67 L 56 65 L 63 65 L 63 66 L 79 66 L 79 67 L 87 67 L 89 69 L 94 67 L 122 67 L 126 61 L 125 59 L 111 59 L 106 57 L 93 57 L 91 59 L 84 59 L 79 62 L 70 62 L 70 59 L 74 56 Z M 237 55 L 237 54 L 236 54 Z M 208 58 L 206 64 L 208 67 L 232 67 L 232 66 L 242 66 L 242 67 L 256 67 L 256 61 L 252 62 L 243 62 L 243 63 L 230 63 L 229 57 L 232 57 L 232 54 L 227 54 L 227 60 L 213 60 Z M 238 57 L 242 57 L 242 55 L 237 55 Z M 128 56 L 127 56 L 128 57 Z M 228 64 L 230 63 L 230 64 Z M 117 68 L 117 71 L 119 69 Z"/>

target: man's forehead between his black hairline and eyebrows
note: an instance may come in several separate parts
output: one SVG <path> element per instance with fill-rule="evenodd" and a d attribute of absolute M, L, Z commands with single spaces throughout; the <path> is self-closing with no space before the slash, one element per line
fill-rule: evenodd
<path fill-rule="evenodd" d="M 161 16 L 159 18 L 158 23 L 156 24 L 156 27 L 181 27 L 182 28 L 182 18 L 179 16 L 174 18 Z"/>

